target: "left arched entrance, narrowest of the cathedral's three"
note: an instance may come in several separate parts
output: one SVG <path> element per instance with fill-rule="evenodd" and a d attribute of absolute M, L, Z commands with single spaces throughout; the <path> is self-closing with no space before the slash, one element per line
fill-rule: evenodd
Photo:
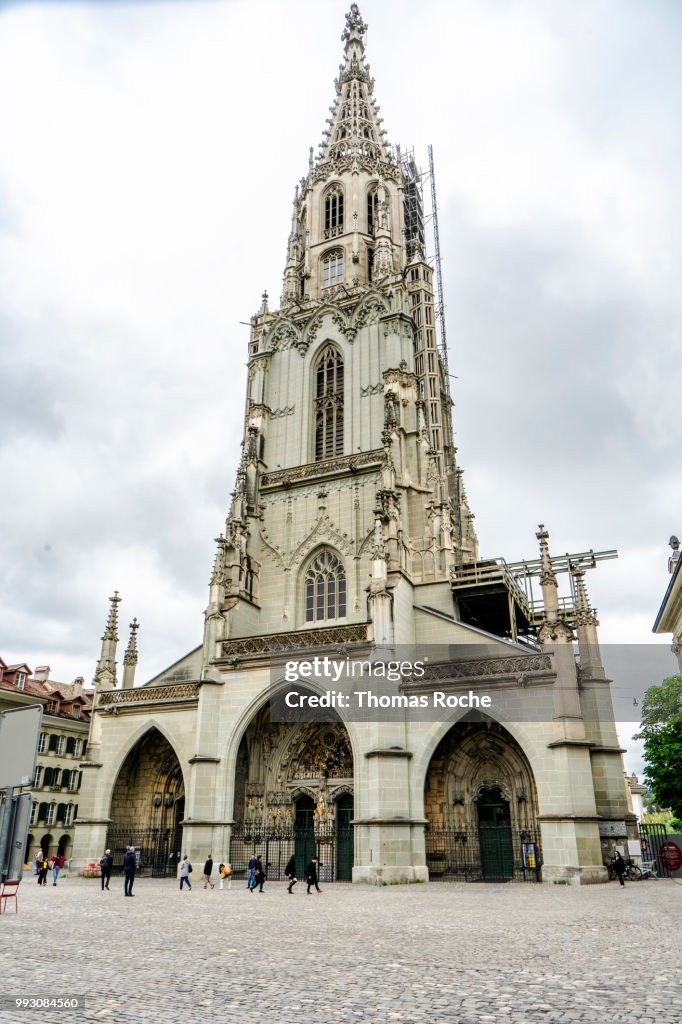
<path fill-rule="evenodd" d="M 114 870 L 123 868 L 128 846 L 139 869 L 156 878 L 173 876 L 181 857 L 184 780 L 175 751 L 158 729 L 150 729 L 124 761 L 112 796 L 106 847 Z"/>

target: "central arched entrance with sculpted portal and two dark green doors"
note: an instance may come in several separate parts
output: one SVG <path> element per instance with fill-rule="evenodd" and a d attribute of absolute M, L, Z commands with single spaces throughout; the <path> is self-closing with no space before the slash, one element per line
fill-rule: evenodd
<path fill-rule="evenodd" d="M 269 703 L 240 743 L 229 859 L 246 873 L 259 854 L 268 879 L 284 879 L 293 855 L 302 877 L 313 856 L 324 882 L 350 881 L 353 759 L 341 722 L 270 721 Z"/>

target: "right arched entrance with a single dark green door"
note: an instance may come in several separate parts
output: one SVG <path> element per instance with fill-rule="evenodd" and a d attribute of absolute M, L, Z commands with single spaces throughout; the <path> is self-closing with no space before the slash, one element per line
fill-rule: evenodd
<path fill-rule="evenodd" d="M 430 878 L 540 881 L 537 808 L 528 760 L 503 726 L 453 726 L 431 758 L 424 790 Z"/>

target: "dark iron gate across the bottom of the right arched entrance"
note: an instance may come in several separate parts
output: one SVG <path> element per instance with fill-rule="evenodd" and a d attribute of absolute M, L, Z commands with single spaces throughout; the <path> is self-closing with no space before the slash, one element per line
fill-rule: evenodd
<path fill-rule="evenodd" d="M 458 831 L 426 829 L 432 882 L 540 882 L 542 847 L 536 828 L 493 825 Z"/>

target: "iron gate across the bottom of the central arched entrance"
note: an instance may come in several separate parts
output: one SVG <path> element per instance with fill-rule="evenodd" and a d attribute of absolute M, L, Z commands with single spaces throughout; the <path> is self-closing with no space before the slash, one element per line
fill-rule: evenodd
<path fill-rule="evenodd" d="M 306 864 L 316 857 L 321 882 L 350 882 L 353 826 L 274 829 L 235 825 L 229 847 L 232 878 L 246 880 L 249 860 L 254 854 L 260 857 L 265 874 L 271 882 L 284 881 L 285 868 L 292 856 L 296 858 L 299 879 L 303 878 Z"/>

